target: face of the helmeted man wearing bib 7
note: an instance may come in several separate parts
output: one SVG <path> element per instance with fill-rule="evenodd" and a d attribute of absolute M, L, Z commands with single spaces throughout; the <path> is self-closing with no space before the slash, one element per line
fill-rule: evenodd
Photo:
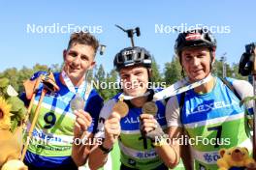
<path fill-rule="evenodd" d="M 208 76 L 211 65 L 208 48 L 200 47 L 184 49 L 181 52 L 181 65 L 186 71 L 190 81 L 195 82 L 204 79 Z"/>

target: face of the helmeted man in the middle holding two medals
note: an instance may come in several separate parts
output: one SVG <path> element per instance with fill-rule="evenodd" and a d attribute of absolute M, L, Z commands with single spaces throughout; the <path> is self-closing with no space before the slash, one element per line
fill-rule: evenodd
<path fill-rule="evenodd" d="M 136 97 L 144 95 L 148 85 L 148 73 L 144 67 L 129 67 L 119 71 L 123 92 Z"/>

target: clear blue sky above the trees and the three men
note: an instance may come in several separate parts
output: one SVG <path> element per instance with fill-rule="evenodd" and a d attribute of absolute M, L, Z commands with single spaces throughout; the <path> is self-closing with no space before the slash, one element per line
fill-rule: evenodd
<path fill-rule="evenodd" d="M 253 0 L 1 1 L 0 71 L 32 68 L 36 63 L 62 63 L 62 50 L 71 33 L 27 32 L 28 24 L 38 27 L 74 24 L 90 27 L 92 31 L 97 27 L 100 31 L 94 31 L 94 35 L 107 45 L 105 55 L 97 56 L 97 63 L 104 64 L 107 71 L 112 69 L 114 55 L 130 46 L 126 35 L 114 24 L 124 28 L 140 26 L 142 36 L 135 38 L 135 44 L 147 48 L 161 70 L 174 55 L 177 33 L 170 32 L 171 27 L 182 24 L 187 28 L 196 24 L 225 27 L 229 33 L 214 34 L 218 42 L 217 59 L 227 52 L 228 63 L 238 63 L 244 44 L 256 42 L 255 7 Z M 166 32 L 155 30 L 156 25 L 163 25 Z"/>

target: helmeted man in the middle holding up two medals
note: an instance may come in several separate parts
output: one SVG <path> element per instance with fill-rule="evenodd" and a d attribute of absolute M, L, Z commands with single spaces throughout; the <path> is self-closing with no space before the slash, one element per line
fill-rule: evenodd
<path fill-rule="evenodd" d="M 143 47 L 127 47 L 116 54 L 113 64 L 119 72 L 122 92 L 107 101 L 101 110 L 95 137 L 104 138 L 104 142 L 90 154 L 91 169 L 104 165 L 117 140 L 122 170 L 165 170 L 176 164 L 176 155 L 171 146 L 157 145 L 155 141 L 155 138 L 164 136 L 165 103 L 161 100 L 155 102 L 158 108 L 155 116 L 142 110 L 144 104 L 151 101 L 153 94 L 158 91 L 148 86 L 152 73 L 151 62 L 151 55 Z M 122 97 L 129 111 L 121 118 L 112 109 Z"/>

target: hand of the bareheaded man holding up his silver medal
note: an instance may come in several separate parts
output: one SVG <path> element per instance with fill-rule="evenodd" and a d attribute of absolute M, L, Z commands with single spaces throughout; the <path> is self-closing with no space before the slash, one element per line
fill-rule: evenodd
<path fill-rule="evenodd" d="M 82 135 L 87 134 L 87 129 L 90 127 L 92 118 L 89 113 L 84 110 L 75 110 L 74 114 L 77 116 L 74 128 L 75 138 L 80 138 Z"/>

